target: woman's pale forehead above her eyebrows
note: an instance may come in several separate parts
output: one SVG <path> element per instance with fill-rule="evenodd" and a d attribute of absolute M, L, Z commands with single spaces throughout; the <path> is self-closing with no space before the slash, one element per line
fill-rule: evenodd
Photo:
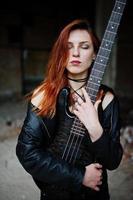
<path fill-rule="evenodd" d="M 69 34 L 68 42 L 84 42 L 88 41 L 91 42 L 90 34 L 87 32 L 87 30 L 73 30 Z"/>

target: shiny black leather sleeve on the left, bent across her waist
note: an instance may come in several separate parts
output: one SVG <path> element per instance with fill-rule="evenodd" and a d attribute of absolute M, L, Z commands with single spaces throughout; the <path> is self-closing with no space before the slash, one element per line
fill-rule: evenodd
<path fill-rule="evenodd" d="M 53 119 L 51 119 L 51 126 L 54 126 Z M 72 184 L 72 187 L 80 187 L 85 169 L 70 166 L 47 152 L 48 137 L 41 120 L 29 106 L 16 146 L 16 154 L 20 163 L 39 181 L 50 184 Z"/>

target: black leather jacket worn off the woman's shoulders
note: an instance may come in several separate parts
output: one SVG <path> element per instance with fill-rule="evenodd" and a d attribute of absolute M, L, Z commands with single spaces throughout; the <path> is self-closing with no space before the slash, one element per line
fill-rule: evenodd
<path fill-rule="evenodd" d="M 105 92 L 109 90 L 107 87 L 103 88 Z M 63 105 L 60 95 L 58 104 L 58 106 Z M 45 184 L 64 187 L 69 185 L 74 191 L 80 191 L 85 166 L 70 165 L 66 161 L 56 158 L 47 150 L 56 133 L 58 115 L 52 119 L 42 118 L 37 116 L 32 108 L 33 105 L 29 102 L 27 115 L 16 146 L 16 154 L 20 163 L 31 174 L 41 191 L 45 191 Z M 102 136 L 93 143 L 86 136 L 85 141 L 90 154 L 95 155 L 96 160 L 103 165 L 104 187 L 101 189 L 101 193 L 108 195 L 106 169 L 116 169 L 123 154 L 120 144 L 119 103 L 116 96 L 104 111 L 102 106 L 99 106 L 99 119 L 104 130 Z M 90 160 L 91 162 L 94 161 Z"/>

